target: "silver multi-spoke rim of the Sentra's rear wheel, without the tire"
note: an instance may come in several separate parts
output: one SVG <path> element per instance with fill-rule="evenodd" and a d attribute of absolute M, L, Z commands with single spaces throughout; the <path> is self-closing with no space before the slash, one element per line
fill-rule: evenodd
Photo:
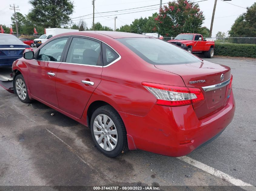
<path fill-rule="evenodd" d="M 118 141 L 117 130 L 112 119 L 105 114 L 98 115 L 93 122 L 93 133 L 97 143 L 105 151 L 112 151 Z"/>

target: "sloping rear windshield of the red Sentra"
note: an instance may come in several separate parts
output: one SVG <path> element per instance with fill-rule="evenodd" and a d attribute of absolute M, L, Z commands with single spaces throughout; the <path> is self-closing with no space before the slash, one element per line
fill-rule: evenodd
<path fill-rule="evenodd" d="M 117 40 L 150 64 L 174 65 L 201 62 L 186 50 L 157 38 L 121 38 Z"/>

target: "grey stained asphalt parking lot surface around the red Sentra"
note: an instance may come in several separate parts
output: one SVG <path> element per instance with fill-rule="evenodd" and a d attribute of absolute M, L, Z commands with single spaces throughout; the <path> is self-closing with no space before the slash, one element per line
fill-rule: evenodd
<path fill-rule="evenodd" d="M 256 60 L 207 60 L 232 68 L 235 116 L 217 139 L 181 158 L 140 150 L 108 158 L 87 127 L 0 87 L 0 186 L 255 186 Z"/>

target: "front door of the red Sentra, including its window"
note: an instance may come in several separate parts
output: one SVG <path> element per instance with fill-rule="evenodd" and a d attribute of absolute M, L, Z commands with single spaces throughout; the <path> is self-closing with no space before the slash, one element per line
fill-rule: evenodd
<path fill-rule="evenodd" d="M 54 107 L 58 107 L 55 80 L 57 69 L 64 55 L 69 37 L 60 37 L 49 41 L 29 62 L 28 86 L 31 94 Z"/>

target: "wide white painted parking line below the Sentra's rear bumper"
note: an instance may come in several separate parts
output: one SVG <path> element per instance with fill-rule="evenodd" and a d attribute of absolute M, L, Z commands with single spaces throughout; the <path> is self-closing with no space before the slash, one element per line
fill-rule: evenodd
<path fill-rule="evenodd" d="M 219 177 L 221 179 L 225 179 L 226 181 L 230 182 L 231 184 L 234 184 L 235 186 L 240 186 L 242 189 L 244 190 L 248 190 L 248 191 L 255 191 L 256 187 L 254 187 L 251 184 L 245 183 L 242 180 L 236 179 L 234 177 L 231 177 L 230 175 L 221 172 L 220 170 L 217 170 L 215 168 L 209 167 L 206 164 L 203 164 L 199 161 L 196 161 L 190 157 L 187 156 L 183 156 L 183 157 L 177 157 L 178 159 L 180 159 L 181 161 L 184 161 L 188 164 L 191 164 L 194 167 L 197 167 L 207 173 L 210 173 L 216 177 Z"/>

